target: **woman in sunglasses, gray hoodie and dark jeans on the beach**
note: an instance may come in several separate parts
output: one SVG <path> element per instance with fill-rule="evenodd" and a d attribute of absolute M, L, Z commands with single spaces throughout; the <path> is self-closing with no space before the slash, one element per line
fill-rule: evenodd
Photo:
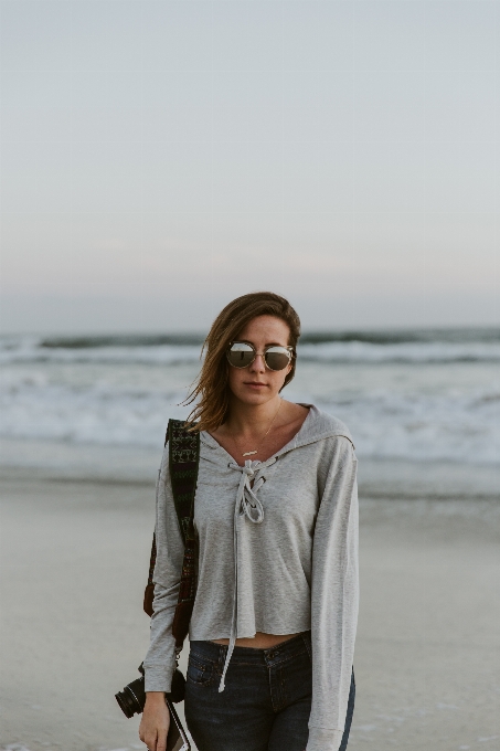
<path fill-rule="evenodd" d="M 273 293 L 215 319 L 191 401 L 201 451 L 185 719 L 199 751 L 343 751 L 354 705 L 357 459 L 345 425 L 280 396 L 300 321 Z M 140 739 L 163 751 L 183 544 L 163 454 Z"/>

